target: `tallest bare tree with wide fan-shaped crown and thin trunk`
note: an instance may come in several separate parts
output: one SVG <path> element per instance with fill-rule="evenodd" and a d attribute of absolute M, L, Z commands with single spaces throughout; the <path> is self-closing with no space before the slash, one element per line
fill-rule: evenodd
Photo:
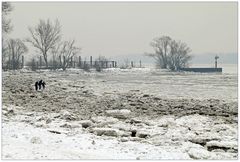
<path fill-rule="evenodd" d="M 27 39 L 43 55 L 46 67 L 48 67 L 48 51 L 56 46 L 61 40 L 61 26 L 58 20 L 55 23 L 40 20 L 34 28 L 29 27 L 31 38 Z"/>

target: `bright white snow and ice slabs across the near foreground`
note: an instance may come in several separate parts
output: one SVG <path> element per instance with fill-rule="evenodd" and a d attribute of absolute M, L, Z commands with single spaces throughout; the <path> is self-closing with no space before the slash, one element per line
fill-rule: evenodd
<path fill-rule="evenodd" d="M 14 116 L 3 122 L 3 159 L 237 158 L 237 124 L 224 124 L 221 119 L 213 121 L 210 117 L 190 115 L 177 119 L 162 116 L 157 120 L 142 120 L 148 125 L 133 127 L 150 136 L 137 138 L 97 136 L 82 128 L 80 122 L 55 120 L 46 124 L 39 121 L 43 115 L 36 115 L 32 119 L 29 114 Z M 33 122 L 26 123 L 26 119 Z M 63 127 L 66 123 L 67 128 Z M 115 129 L 128 126 L 122 121 L 108 124 Z M 212 146 L 214 151 L 208 151 L 211 147 L 204 147 L 201 142 Z"/>

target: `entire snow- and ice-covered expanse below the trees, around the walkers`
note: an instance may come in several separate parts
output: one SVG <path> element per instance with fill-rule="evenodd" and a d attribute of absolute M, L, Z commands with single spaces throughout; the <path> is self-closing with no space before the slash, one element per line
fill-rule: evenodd
<path fill-rule="evenodd" d="M 2 96 L 2 159 L 237 159 L 236 74 L 22 70 Z"/>

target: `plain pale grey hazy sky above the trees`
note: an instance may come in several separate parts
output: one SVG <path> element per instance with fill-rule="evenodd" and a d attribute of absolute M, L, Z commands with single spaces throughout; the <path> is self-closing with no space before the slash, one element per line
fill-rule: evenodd
<path fill-rule="evenodd" d="M 13 38 L 26 38 L 39 19 L 59 19 L 66 40 L 83 55 L 152 52 L 150 41 L 169 35 L 192 53 L 237 53 L 237 2 L 15 2 Z"/>

